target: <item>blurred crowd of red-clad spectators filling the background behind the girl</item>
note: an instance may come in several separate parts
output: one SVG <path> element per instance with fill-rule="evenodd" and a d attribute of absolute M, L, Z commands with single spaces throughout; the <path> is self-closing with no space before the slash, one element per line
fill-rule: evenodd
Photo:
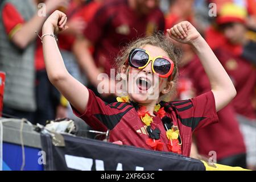
<path fill-rule="evenodd" d="M 46 5 L 46 16 L 38 16 L 40 3 Z M 35 33 L 42 35 L 51 12 L 60 10 L 68 17 L 68 30 L 58 35 L 68 72 L 106 102 L 116 96 L 97 92 L 97 76 L 110 75 L 119 51 L 132 40 L 158 31 L 165 34 L 166 28 L 188 20 L 237 89 L 236 98 L 218 112 L 220 122 L 195 133 L 191 157 L 201 159 L 216 151 L 218 163 L 256 169 L 255 0 L 0 0 L 0 9 L 0 71 L 6 72 L 3 117 L 42 125 L 55 118 L 77 119 L 47 78 L 42 43 Z M 182 56 L 177 94 L 170 100 L 210 90 L 191 47 L 174 44 Z"/>

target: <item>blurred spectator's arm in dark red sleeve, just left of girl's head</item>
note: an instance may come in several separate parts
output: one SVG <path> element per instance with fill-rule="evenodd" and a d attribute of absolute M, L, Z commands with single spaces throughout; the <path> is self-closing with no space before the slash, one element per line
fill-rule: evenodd
<path fill-rule="evenodd" d="M 97 77 L 102 72 L 96 66 L 95 60 L 90 52 L 90 47 L 94 46 L 97 42 L 100 42 L 102 36 L 105 35 L 105 27 L 110 21 L 110 15 L 108 9 L 104 5 L 97 7 L 96 12 L 93 14 L 93 17 L 86 25 L 83 36 L 79 36 L 75 40 L 72 51 L 76 56 L 82 72 L 89 78 L 90 83 L 97 88 L 98 84 L 102 82 L 101 80 L 98 80 Z M 105 84 L 110 84 L 110 82 L 113 83 L 109 85 L 109 88 L 110 86 L 115 85 L 114 80 L 104 79 L 104 81 L 106 81 Z M 102 94 L 102 96 L 108 95 L 108 93 Z"/>

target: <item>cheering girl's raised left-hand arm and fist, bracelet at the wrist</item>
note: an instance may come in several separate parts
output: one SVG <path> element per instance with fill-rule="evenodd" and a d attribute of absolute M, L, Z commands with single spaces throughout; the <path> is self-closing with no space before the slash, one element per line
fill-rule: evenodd
<path fill-rule="evenodd" d="M 66 23 L 67 16 L 57 10 L 44 23 L 42 30 L 44 63 L 46 64 L 49 81 L 67 98 L 79 113 L 83 113 L 88 104 L 88 89 L 69 75 L 56 40 L 50 36 L 67 29 Z"/>

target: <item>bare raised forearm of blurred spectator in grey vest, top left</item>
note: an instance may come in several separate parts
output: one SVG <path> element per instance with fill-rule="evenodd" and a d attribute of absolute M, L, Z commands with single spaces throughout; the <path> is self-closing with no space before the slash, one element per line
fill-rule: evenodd
<path fill-rule="evenodd" d="M 68 0 L 47 0 L 45 3 L 46 13 L 49 14 L 59 6 L 66 6 Z M 35 40 L 37 37 L 35 31 L 40 32 L 46 18 L 44 16 L 38 16 L 38 13 L 36 13 L 28 22 L 23 23 L 15 34 L 11 36 L 11 41 L 21 49 L 26 48 L 30 42 Z"/>

